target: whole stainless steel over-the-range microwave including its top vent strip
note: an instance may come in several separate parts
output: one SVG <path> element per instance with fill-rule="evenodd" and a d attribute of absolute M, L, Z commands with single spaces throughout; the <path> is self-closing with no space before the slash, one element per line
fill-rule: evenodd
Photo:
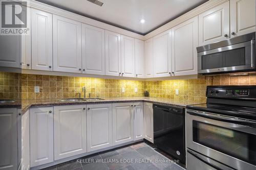
<path fill-rule="evenodd" d="M 197 47 L 198 74 L 255 70 L 255 32 Z"/>

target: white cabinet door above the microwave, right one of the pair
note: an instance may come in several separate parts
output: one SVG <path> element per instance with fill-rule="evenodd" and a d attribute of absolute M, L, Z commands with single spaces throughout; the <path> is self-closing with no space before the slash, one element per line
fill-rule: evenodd
<path fill-rule="evenodd" d="M 230 0 L 231 37 L 255 32 L 255 0 Z"/>

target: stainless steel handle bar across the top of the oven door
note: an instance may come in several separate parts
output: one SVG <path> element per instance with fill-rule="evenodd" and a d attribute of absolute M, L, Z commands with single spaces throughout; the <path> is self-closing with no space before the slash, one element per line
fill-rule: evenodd
<path fill-rule="evenodd" d="M 228 117 L 228 116 L 219 116 L 219 115 L 209 115 L 207 113 L 198 113 L 198 112 L 191 111 L 191 110 L 187 110 L 187 113 L 190 115 L 201 116 L 201 117 L 210 118 L 210 119 L 214 119 L 214 120 L 220 120 L 220 121 L 226 122 L 226 123 L 233 123 L 233 124 L 238 124 L 241 126 L 256 128 L 256 122 L 255 123 L 247 122 L 242 119 L 236 119 L 236 118 L 232 118 L 232 117 Z"/>

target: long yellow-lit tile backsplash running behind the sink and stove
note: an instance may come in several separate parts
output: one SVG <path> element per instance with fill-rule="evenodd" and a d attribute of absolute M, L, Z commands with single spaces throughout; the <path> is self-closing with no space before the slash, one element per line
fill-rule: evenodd
<path fill-rule="evenodd" d="M 34 86 L 40 86 L 40 92 L 34 93 Z M 83 98 L 82 87 L 86 86 L 87 95 L 91 98 L 143 96 L 144 90 L 150 96 L 167 98 L 171 100 L 186 100 L 191 102 L 206 101 L 205 90 L 209 85 L 256 85 L 256 74 L 247 76 L 199 76 L 190 80 L 164 80 L 164 81 L 134 81 L 99 78 L 80 78 L 65 76 L 22 75 L 22 99 L 54 99 Z M 125 92 L 121 88 L 125 87 Z M 134 92 L 135 87 L 138 93 Z M 179 89 L 179 95 L 175 95 Z"/>

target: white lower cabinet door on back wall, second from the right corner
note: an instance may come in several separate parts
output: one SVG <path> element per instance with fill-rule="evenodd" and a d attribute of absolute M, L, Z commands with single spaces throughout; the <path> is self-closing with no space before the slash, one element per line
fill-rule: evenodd
<path fill-rule="evenodd" d="M 133 141 L 133 103 L 114 103 L 113 145 Z"/>

